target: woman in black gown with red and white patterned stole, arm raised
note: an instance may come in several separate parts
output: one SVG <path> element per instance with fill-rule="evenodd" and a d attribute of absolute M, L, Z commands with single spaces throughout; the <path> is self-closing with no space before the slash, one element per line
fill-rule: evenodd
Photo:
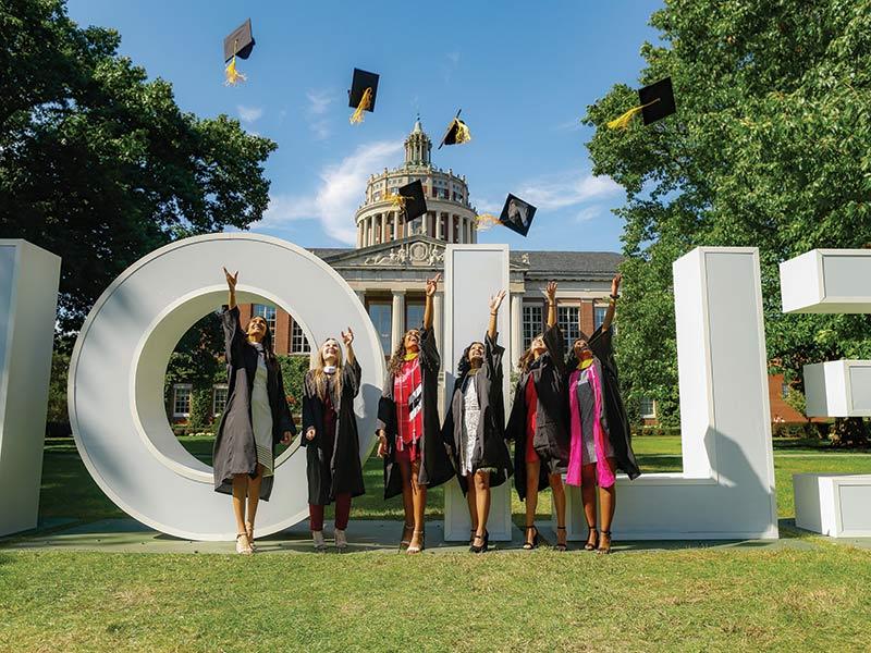
<path fill-rule="evenodd" d="M 439 368 L 432 332 L 432 296 L 441 274 L 427 280 L 424 328 L 402 338 L 388 365 L 378 404 L 378 455 L 384 458 L 384 498 L 402 493 L 405 528 L 400 546 L 424 550 L 427 488 L 441 485 L 454 468 L 441 434 Z"/>

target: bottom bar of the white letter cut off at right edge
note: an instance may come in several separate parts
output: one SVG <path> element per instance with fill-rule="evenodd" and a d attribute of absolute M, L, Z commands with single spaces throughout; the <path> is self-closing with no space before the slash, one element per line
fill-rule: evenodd
<path fill-rule="evenodd" d="M 796 526 L 832 538 L 871 538 L 871 475 L 796 473 Z"/>

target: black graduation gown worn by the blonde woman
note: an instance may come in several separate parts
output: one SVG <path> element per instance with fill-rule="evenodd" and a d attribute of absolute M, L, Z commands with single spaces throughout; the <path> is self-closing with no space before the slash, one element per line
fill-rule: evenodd
<path fill-rule="evenodd" d="M 309 370 L 303 387 L 303 438 L 306 447 L 306 472 L 308 477 L 308 503 L 324 506 L 332 503 L 336 494 L 349 493 L 359 496 L 366 493 L 360 466 L 360 442 L 357 434 L 357 418 L 354 415 L 354 397 L 360 390 L 360 366 L 354 364 L 342 368 L 342 396 L 335 394 L 335 383 L 329 382 L 330 401 L 335 410 L 335 429 L 328 433 L 323 426 L 326 406 L 315 384 L 315 372 Z M 315 429 L 309 441 L 306 431 Z"/>

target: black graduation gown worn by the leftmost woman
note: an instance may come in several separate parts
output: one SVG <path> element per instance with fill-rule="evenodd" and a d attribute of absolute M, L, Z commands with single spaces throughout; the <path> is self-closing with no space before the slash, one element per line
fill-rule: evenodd
<path fill-rule="evenodd" d="M 218 426 L 212 451 L 214 491 L 233 493 L 233 475 L 257 476 L 257 448 L 252 427 L 252 391 L 260 354 L 248 343 L 247 334 L 238 321 L 238 307 L 221 313 L 224 329 L 224 354 L 226 356 L 226 407 Z M 267 394 L 272 409 L 272 448 L 281 441 L 284 431 L 296 434 L 291 419 L 284 381 L 278 362 L 267 364 Z M 269 501 L 273 477 L 263 477 L 260 498 Z"/>

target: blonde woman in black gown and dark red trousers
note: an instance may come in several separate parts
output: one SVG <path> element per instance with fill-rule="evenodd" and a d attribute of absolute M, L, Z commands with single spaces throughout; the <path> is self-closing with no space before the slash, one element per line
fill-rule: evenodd
<path fill-rule="evenodd" d="M 347 350 L 334 337 L 318 350 L 303 387 L 303 434 L 308 478 L 308 513 L 316 551 L 323 551 L 323 507 L 335 502 L 335 546 L 347 549 L 351 500 L 366 492 L 354 398 L 360 390 L 360 366 L 354 355 L 354 332 L 342 332 Z"/>

